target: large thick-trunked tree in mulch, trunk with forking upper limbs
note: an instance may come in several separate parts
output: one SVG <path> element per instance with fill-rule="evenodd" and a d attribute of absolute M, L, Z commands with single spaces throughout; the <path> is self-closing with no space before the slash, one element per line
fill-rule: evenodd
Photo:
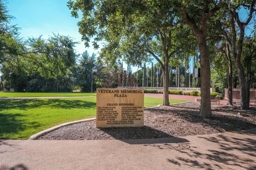
<path fill-rule="evenodd" d="M 209 20 L 221 7 L 221 1 L 179 1 L 181 16 L 193 30 L 200 52 L 201 62 L 201 107 L 200 116 L 210 118 L 210 51 L 207 45 L 207 32 L 209 31 Z"/>

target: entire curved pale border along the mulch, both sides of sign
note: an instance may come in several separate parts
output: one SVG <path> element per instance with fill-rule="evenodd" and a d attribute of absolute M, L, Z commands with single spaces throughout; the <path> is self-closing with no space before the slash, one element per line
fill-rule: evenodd
<path fill-rule="evenodd" d="M 171 105 L 183 104 L 183 103 L 189 103 L 189 102 L 192 102 L 192 101 L 185 101 L 185 102 L 182 102 L 182 103 L 170 104 L 170 106 Z M 162 105 L 157 105 L 157 106 L 154 106 L 154 107 L 145 108 L 144 110 L 151 109 L 151 108 L 156 108 L 156 107 L 160 107 L 160 106 L 162 106 Z M 36 134 L 31 135 L 31 137 L 29 137 L 28 140 L 35 140 L 36 138 L 41 137 L 45 133 L 49 133 L 51 131 L 57 130 L 57 129 L 63 127 L 63 126 L 67 126 L 67 125 L 75 124 L 75 123 L 81 123 L 81 122 L 94 121 L 94 120 L 96 120 L 96 117 L 87 118 L 87 119 L 84 119 L 84 120 L 79 120 L 79 121 L 74 121 L 74 122 L 67 122 L 67 123 L 57 125 L 57 126 L 53 126 L 52 128 L 49 128 L 49 129 L 46 129 L 46 130 L 43 130 L 41 132 L 38 132 Z"/>

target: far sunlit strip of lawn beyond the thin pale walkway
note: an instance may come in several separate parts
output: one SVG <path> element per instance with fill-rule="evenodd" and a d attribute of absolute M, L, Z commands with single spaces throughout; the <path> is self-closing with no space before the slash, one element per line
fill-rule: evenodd
<path fill-rule="evenodd" d="M 96 96 L 91 92 L 0 92 L 0 97 Z"/>

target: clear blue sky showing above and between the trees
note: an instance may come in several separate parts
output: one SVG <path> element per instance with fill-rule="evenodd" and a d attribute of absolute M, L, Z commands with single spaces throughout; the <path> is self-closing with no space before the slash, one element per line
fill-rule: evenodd
<path fill-rule="evenodd" d="M 93 46 L 85 48 L 84 43 L 81 42 L 81 35 L 78 32 L 77 22 L 79 18 L 73 18 L 70 10 L 67 7 L 68 0 L 6 0 L 9 14 L 14 17 L 11 24 L 20 27 L 20 36 L 27 39 L 28 37 L 48 38 L 52 33 L 59 33 L 60 35 L 74 38 L 74 41 L 79 44 L 75 49 L 78 54 L 82 54 L 85 50 L 89 54 L 99 54 L 100 49 L 95 50 Z M 241 19 L 247 16 L 246 11 L 242 11 Z M 254 18 L 255 19 L 255 18 Z M 251 29 L 247 29 L 249 34 Z M 156 60 L 154 60 L 156 63 Z M 190 67 L 193 65 L 190 62 Z M 151 64 L 147 64 L 151 67 Z M 124 68 L 126 64 L 124 63 Z M 133 72 L 137 71 L 137 67 L 132 67 Z M 193 69 L 191 69 L 193 72 Z"/>

